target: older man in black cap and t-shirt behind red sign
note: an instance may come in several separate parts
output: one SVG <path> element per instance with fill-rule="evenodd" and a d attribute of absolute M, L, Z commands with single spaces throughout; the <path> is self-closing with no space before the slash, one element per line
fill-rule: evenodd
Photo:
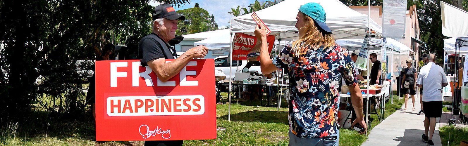
<path fill-rule="evenodd" d="M 149 66 L 161 81 L 167 81 L 179 73 L 192 58 L 205 58 L 208 48 L 197 46 L 183 53 L 179 58 L 175 50 L 170 49 L 169 40 L 176 37 L 177 22 L 185 20 L 178 15 L 174 7 L 161 4 L 153 11 L 153 31 L 141 38 L 138 45 L 138 57 L 142 66 Z M 176 59 L 166 63 L 166 59 Z M 182 146 L 182 140 L 145 141 L 146 146 Z"/>

